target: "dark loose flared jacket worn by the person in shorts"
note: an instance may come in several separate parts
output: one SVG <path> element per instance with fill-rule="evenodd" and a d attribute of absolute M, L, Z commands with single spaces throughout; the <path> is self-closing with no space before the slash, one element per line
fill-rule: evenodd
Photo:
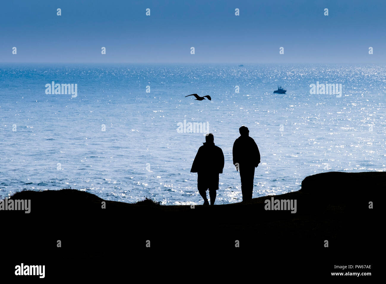
<path fill-rule="evenodd" d="M 224 154 L 213 142 L 205 142 L 198 148 L 194 158 L 192 173 L 218 174 L 224 168 Z"/>

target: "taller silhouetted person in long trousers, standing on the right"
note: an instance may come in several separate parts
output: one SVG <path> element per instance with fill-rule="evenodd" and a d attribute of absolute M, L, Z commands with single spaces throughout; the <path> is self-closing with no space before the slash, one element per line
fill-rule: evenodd
<path fill-rule="evenodd" d="M 252 199 L 253 178 L 260 163 L 260 152 L 255 140 L 249 137 L 247 127 L 241 126 L 239 132 L 240 137 L 233 144 L 233 164 L 236 170 L 240 170 L 242 200 L 246 201 Z"/>

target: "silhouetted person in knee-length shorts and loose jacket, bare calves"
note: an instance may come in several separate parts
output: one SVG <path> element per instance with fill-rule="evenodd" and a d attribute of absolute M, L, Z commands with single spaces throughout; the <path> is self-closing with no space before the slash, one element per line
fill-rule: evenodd
<path fill-rule="evenodd" d="M 215 145 L 212 133 L 205 136 L 205 143 L 198 148 L 194 158 L 191 173 L 198 173 L 198 192 L 204 199 L 204 205 L 209 205 L 207 189 L 209 189 L 210 204 L 215 204 L 216 190 L 218 190 L 218 174 L 224 168 L 224 154 L 220 147 Z"/>

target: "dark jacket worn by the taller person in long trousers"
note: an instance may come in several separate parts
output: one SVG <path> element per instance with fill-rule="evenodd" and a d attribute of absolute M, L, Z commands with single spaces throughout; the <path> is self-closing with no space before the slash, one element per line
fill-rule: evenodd
<path fill-rule="evenodd" d="M 260 152 L 252 137 L 240 136 L 233 144 L 233 164 L 257 167 L 260 163 Z"/>

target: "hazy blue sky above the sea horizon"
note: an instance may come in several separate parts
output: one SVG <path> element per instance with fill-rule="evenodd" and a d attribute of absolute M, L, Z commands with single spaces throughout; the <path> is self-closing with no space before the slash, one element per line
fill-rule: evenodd
<path fill-rule="evenodd" d="M 0 62 L 386 63 L 385 8 L 380 0 L 1 1 Z"/>

